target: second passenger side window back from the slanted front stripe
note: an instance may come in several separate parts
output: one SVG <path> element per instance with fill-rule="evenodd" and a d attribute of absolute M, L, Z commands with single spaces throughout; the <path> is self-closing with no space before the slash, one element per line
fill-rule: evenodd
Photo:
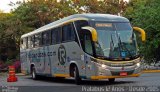
<path fill-rule="evenodd" d="M 52 29 L 52 44 L 61 42 L 61 27 Z"/>

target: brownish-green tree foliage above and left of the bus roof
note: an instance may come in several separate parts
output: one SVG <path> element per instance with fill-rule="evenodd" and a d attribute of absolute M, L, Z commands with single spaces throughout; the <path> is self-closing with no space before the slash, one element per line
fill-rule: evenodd
<path fill-rule="evenodd" d="M 0 53 L 15 58 L 19 54 L 20 36 L 55 20 L 77 13 L 117 14 L 124 9 L 118 0 L 29 0 L 11 13 L 0 13 Z"/>

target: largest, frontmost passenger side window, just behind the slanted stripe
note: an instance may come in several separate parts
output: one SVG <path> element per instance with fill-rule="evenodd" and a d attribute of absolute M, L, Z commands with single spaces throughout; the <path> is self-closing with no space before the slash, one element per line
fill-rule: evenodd
<path fill-rule="evenodd" d="M 75 40 L 75 30 L 72 23 L 64 25 L 62 27 L 62 41 L 74 41 Z"/>

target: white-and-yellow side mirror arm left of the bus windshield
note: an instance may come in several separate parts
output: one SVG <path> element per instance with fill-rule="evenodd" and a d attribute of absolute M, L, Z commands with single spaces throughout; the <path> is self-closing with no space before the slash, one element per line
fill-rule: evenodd
<path fill-rule="evenodd" d="M 92 40 L 94 42 L 97 42 L 98 41 L 98 36 L 97 36 L 97 31 L 96 29 L 94 29 L 93 27 L 89 27 L 89 26 L 86 26 L 86 27 L 82 27 L 82 29 L 85 29 L 85 30 L 88 30 L 91 32 L 91 35 L 92 35 Z"/>

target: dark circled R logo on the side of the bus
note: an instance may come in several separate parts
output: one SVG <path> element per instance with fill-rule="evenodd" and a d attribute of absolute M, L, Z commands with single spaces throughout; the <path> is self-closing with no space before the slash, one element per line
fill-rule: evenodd
<path fill-rule="evenodd" d="M 63 45 L 60 45 L 58 48 L 58 59 L 61 65 L 64 65 L 66 62 L 66 50 Z"/>

